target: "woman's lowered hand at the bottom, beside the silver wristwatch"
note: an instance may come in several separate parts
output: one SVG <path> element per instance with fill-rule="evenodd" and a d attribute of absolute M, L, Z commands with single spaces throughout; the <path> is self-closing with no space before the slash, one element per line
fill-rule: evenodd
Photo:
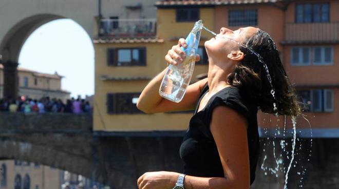
<path fill-rule="evenodd" d="M 138 179 L 139 189 L 172 189 L 177 182 L 179 173 L 147 172 Z"/>

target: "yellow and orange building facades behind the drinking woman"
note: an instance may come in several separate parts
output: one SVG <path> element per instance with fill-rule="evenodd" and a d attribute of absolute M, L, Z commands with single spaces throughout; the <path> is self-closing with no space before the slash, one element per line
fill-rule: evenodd
<path fill-rule="evenodd" d="M 177 44 L 179 37 L 185 37 L 199 19 L 217 33 L 221 27 L 246 26 L 267 31 L 278 47 L 300 100 L 306 104 L 305 115 L 312 127 L 324 131 L 339 126 L 336 119 L 339 82 L 335 77 L 339 48 L 339 15 L 335 10 L 339 2 L 160 1 L 156 6 L 154 25 L 157 28 L 151 35 L 149 32 L 139 36 L 106 35 L 94 40 L 97 102 L 94 130 L 184 130 L 187 127 L 191 112 L 145 115 L 136 108 L 136 102 L 150 79 L 166 67 L 164 55 L 168 49 Z M 202 32 L 199 51 L 202 61 L 195 66 L 192 82 L 208 70 L 203 43 L 210 37 L 208 32 Z M 276 118 L 258 115 L 261 127 L 275 128 L 277 124 L 284 124 L 265 120 Z M 291 127 L 290 118 L 287 120 Z M 309 128 L 309 124 L 300 118 L 298 128 Z M 323 135 L 323 131 L 319 130 L 319 135 Z"/>

